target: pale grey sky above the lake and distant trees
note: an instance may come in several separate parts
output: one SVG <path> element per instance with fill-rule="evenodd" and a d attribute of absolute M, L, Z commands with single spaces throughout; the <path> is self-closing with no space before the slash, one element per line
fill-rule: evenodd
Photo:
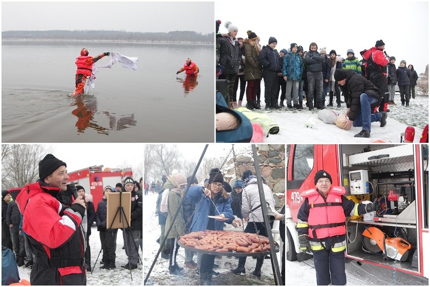
<path fill-rule="evenodd" d="M 213 2 L 3 2 L 2 31 L 212 33 Z"/>

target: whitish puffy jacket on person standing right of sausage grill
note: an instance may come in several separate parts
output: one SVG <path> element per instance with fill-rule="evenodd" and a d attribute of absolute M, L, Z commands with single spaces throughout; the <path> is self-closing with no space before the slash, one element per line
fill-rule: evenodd
<path fill-rule="evenodd" d="M 266 202 L 275 208 L 272 190 L 263 184 L 264 198 Z M 263 213 L 260 203 L 260 193 L 258 192 L 257 179 L 249 180 L 247 186 L 242 191 L 242 216 L 249 217 L 249 222 L 263 222 Z"/>

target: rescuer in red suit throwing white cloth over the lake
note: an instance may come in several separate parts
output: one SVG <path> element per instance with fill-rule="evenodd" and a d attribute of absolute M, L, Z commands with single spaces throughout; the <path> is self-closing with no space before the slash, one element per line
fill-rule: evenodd
<path fill-rule="evenodd" d="M 88 55 L 87 49 L 83 48 L 81 50 L 81 55 L 76 58 L 77 60 L 75 62 L 76 66 L 78 66 L 78 69 L 76 70 L 76 89 L 72 93 L 72 96 L 84 93 L 85 82 L 87 78 L 91 76 L 92 64 L 94 64 L 104 56 L 110 55 L 110 52 L 104 52 L 92 58 L 92 56 Z"/>

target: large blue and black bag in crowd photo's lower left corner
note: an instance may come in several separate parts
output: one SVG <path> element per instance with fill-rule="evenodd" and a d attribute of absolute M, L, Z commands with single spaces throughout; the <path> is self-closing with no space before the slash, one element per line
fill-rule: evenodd
<path fill-rule="evenodd" d="M 230 109 L 223 95 L 217 92 L 217 113 L 227 112 L 232 114 L 239 123 L 239 127 L 233 130 L 218 131 L 217 143 L 249 143 L 252 138 L 252 124 L 241 112 Z"/>

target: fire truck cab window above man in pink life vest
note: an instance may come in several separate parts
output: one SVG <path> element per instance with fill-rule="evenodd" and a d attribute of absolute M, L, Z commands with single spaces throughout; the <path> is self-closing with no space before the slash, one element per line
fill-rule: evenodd
<path fill-rule="evenodd" d="M 313 167 L 313 145 L 297 145 L 294 152 L 294 180 L 305 180 Z"/>

